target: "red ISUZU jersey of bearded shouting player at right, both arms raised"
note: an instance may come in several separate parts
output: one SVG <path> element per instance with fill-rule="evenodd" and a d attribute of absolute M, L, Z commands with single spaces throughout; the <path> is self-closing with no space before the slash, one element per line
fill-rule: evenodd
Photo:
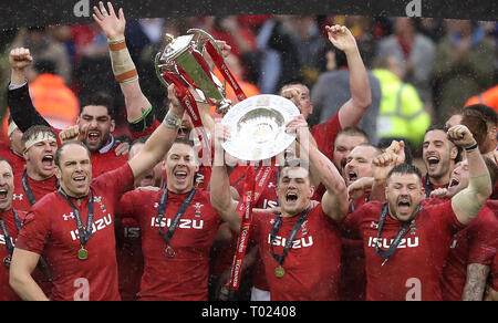
<path fill-rule="evenodd" d="M 375 246 L 380 243 L 382 250 L 387 250 L 402 222 L 387 216 L 377 241 L 382 207 L 383 204 L 378 201 L 367 202 L 343 221 L 353 236 L 363 239 L 366 300 L 442 300 L 443 264 L 453 236 L 464 228 L 452 209 L 452 202 L 424 207 L 384 265 L 384 258 L 377 254 Z"/>

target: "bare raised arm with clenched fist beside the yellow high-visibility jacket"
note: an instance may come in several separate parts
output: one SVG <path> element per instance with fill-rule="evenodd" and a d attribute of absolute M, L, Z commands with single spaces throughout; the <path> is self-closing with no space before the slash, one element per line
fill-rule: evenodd
<path fill-rule="evenodd" d="M 342 127 L 355 126 L 372 104 L 369 75 L 351 31 L 341 25 L 328 25 L 326 32 L 330 42 L 345 53 L 350 70 L 351 98 L 339 110 L 339 121 Z"/>

